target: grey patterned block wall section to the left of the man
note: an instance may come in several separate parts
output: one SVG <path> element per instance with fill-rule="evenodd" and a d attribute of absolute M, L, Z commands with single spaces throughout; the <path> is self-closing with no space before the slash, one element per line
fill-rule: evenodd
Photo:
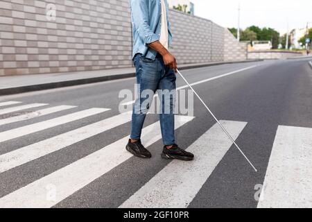
<path fill-rule="evenodd" d="M 1 0 L 0 75 L 129 67 L 129 18 L 128 0 Z"/>

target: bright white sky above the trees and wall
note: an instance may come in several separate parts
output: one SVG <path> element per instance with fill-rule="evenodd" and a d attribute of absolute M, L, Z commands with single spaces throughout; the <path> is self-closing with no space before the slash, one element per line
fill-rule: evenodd
<path fill-rule="evenodd" d="M 312 0 L 191 0 L 195 15 L 210 19 L 220 26 L 238 26 L 241 5 L 241 28 L 256 25 L 286 33 L 293 28 L 312 27 Z M 288 25 L 287 25 L 288 24 Z"/>

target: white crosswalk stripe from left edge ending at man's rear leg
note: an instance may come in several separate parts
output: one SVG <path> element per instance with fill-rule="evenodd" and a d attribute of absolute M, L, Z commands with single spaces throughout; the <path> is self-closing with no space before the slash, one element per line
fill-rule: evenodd
<path fill-rule="evenodd" d="M 0 155 L 0 173 L 127 123 L 131 121 L 131 115 L 131 112 L 125 112 Z"/>

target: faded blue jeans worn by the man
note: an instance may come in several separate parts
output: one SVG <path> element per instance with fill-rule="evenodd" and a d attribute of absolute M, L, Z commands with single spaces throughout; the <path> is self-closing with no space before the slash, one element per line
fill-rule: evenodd
<path fill-rule="evenodd" d="M 141 93 L 146 89 L 153 92 L 153 95 L 158 89 L 175 91 L 176 76 L 173 69 L 164 66 L 162 56 L 159 54 L 156 56 L 155 60 L 145 58 L 141 54 L 137 54 L 133 60 L 136 69 L 137 85 L 139 86 L 137 89 L 139 98 L 135 101 L 135 107 L 132 112 L 130 138 L 140 139 L 146 114 L 153 101 L 153 96 L 145 96 L 147 98 L 142 98 L 144 96 L 140 96 Z M 166 99 L 162 99 L 162 96 L 166 95 L 159 95 L 159 99 L 162 102 L 162 112 L 159 114 L 159 121 L 162 130 L 162 140 L 164 145 L 168 146 L 175 144 L 175 117 L 173 113 L 174 99 L 170 96 L 168 102 Z M 169 104 L 165 105 L 165 102 Z M 170 112 L 164 112 L 165 107 L 168 107 Z"/>

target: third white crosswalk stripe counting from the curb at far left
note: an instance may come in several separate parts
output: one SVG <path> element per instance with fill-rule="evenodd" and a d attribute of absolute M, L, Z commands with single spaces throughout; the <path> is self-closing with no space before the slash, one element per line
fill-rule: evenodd
<path fill-rule="evenodd" d="M 28 119 L 33 119 L 35 117 L 42 117 L 42 116 L 47 115 L 47 114 L 52 114 L 54 112 L 60 112 L 60 111 L 63 111 L 63 110 L 69 110 L 69 109 L 72 109 L 72 108 L 76 108 L 76 106 L 73 106 L 73 105 L 58 105 L 58 106 L 55 106 L 55 107 L 52 107 L 52 108 L 46 108 L 46 109 L 43 109 L 43 110 L 37 110 L 35 112 L 31 112 L 31 113 L 28 113 L 28 114 L 22 114 L 22 115 L 19 115 L 19 116 L 16 116 L 16 117 L 9 117 L 9 118 L 6 118 L 6 119 L 0 119 L 0 126 L 6 125 L 6 124 L 9 124 L 9 123 L 15 123 L 15 122 L 18 122 L 18 121 L 24 121 L 24 120 L 28 120 Z"/>

